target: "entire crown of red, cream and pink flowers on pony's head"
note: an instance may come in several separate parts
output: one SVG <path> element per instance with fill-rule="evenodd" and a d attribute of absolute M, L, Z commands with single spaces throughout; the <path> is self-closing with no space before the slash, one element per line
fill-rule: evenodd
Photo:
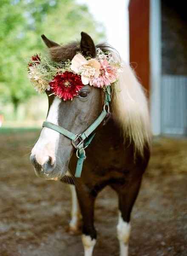
<path fill-rule="evenodd" d="M 51 90 L 64 101 L 72 100 L 86 84 L 105 89 L 118 79 L 121 63 L 114 61 L 110 52 L 96 49 L 96 58 L 78 53 L 70 61 L 53 62 L 34 55 L 28 62 L 28 78 L 37 92 Z"/>

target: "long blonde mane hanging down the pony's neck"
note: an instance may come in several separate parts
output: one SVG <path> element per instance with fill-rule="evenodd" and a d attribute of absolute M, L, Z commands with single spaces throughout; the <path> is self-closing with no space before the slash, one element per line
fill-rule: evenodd
<path fill-rule="evenodd" d="M 151 139 L 147 99 L 133 70 L 124 62 L 112 102 L 113 113 L 124 139 L 130 138 L 135 145 L 135 151 L 143 155 L 144 146 L 150 145 Z"/>

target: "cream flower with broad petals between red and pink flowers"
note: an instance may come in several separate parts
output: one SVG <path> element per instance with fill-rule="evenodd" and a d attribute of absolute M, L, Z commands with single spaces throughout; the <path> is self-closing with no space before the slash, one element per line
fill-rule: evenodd
<path fill-rule="evenodd" d="M 86 60 L 81 54 L 76 54 L 71 61 L 71 70 L 81 75 L 82 84 L 89 84 L 90 78 L 98 78 L 100 63 L 96 59 Z"/>

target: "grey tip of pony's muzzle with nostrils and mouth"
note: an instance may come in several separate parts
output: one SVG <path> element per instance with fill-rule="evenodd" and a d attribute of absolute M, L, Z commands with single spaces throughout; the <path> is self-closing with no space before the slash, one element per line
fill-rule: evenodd
<path fill-rule="evenodd" d="M 56 161 L 52 163 L 52 158 L 50 156 L 42 165 L 37 162 L 35 155 L 31 155 L 30 160 L 38 177 L 43 177 L 48 180 L 57 180 L 59 178 L 59 173 L 55 171 Z"/>

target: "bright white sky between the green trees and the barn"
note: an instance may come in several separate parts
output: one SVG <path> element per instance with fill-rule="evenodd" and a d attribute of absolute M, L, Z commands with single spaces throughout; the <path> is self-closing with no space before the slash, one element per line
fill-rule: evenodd
<path fill-rule="evenodd" d="M 129 62 L 129 0 L 77 0 L 87 4 L 95 20 L 106 29 L 107 42 L 118 50 L 121 57 Z"/>

